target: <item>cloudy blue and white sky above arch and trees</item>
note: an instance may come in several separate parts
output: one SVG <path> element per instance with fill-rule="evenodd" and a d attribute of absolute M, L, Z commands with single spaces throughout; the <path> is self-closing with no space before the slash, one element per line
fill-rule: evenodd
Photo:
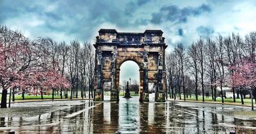
<path fill-rule="evenodd" d="M 256 1 L 236 0 L 23 0 L 0 1 L 0 24 L 27 37 L 94 42 L 100 28 L 118 32 L 161 29 L 172 50 L 199 36 L 256 31 Z"/>

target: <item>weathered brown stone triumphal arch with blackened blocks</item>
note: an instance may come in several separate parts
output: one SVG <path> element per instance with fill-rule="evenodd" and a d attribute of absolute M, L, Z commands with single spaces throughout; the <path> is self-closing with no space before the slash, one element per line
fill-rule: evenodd
<path fill-rule="evenodd" d="M 104 100 L 103 84 L 111 82 L 111 101 L 119 100 L 120 66 L 134 61 L 140 67 L 140 101 L 148 101 L 148 82 L 154 83 L 156 101 L 165 101 L 166 78 L 164 68 L 164 43 L 161 30 L 144 33 L 118 33 L 115 29 L 100 29 L 95 64 L 95 101 Z"/>

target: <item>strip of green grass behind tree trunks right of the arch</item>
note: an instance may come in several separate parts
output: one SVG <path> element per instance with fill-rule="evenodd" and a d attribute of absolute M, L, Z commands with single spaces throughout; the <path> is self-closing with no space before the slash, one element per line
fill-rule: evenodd
<path fill-rule="evenodd" d="M 179 98 L 177 98 L 177 99 L 179 99 Z M 184 97 L 183 96 L 181 96 L 181 99 L 182 100 L 184 100 Z M 224 99 L 224 103 L 225 102 L 233 102 L 234 100 L 233 100 L 233 98 L 223 98 Z M 186 98 L 186 100 L 193 100 L 193 101 L 195 101 L 196 100 L 196 98 L 195 98 L 195 96 L 193 96 L 193 97 L 191 97 L 191 98 Z M 203 100 L 203 97 L 202 96 L 198 96 L 198 101 L 202 101 Z M 209 96 L 209 98 L 204 98 L 204 100 L 205 101 L 214 101 L 214 100 L 212 100 L 212 97 L 210 97 Z M 218 97 L 218 98 L 216 98 L 216 101 L 221 101 L 221 97 Z M 254 100 L 253 100 L 254 101 Z M 239 99 L 237 99 L 236 98 L 236 102 L 237 103 L 242 103 L 242 101 L 241 101 L 241 99 L 239 98 Z M 250 98 L 246 98 L 246 99 L 244 99 L 244 103 L 251 103 L 251 99 Z"/>

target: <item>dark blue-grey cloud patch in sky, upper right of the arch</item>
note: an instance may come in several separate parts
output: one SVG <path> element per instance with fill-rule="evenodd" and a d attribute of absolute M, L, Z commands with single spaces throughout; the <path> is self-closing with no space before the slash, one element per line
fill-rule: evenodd
<path fill-rule="evenodd" d="M 185 23 L 188 22 L 188 17 L 197 16 L 205 11 L 211 11 L 210 6 L 202 4 L 198 7 L 185 7 L 179 8 L 176 5 L 163 6 L 158 12 L 152 13 L 152 19 L 150 22 L 153 24 L 161 24 L 162 22 L 170 21 L 173 23 Z"/>

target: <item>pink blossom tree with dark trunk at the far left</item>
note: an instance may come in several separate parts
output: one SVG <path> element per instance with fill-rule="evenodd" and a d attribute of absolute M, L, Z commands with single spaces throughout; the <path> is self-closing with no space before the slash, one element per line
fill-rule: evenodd
<path fill-rule="evenodd" d="M 52 66 L 47 52 L 42 53 L 40 42 L 29 41 L 19 32 L 4 26 L 0 26 L 0 64 L 1 108 L 6 108 L 8 89 L 11 92 L 11 89 L 17 88 L 24 97 L 24 91 L 28 89 L 70 86 L 56 71 L 58 68 Z"/>

